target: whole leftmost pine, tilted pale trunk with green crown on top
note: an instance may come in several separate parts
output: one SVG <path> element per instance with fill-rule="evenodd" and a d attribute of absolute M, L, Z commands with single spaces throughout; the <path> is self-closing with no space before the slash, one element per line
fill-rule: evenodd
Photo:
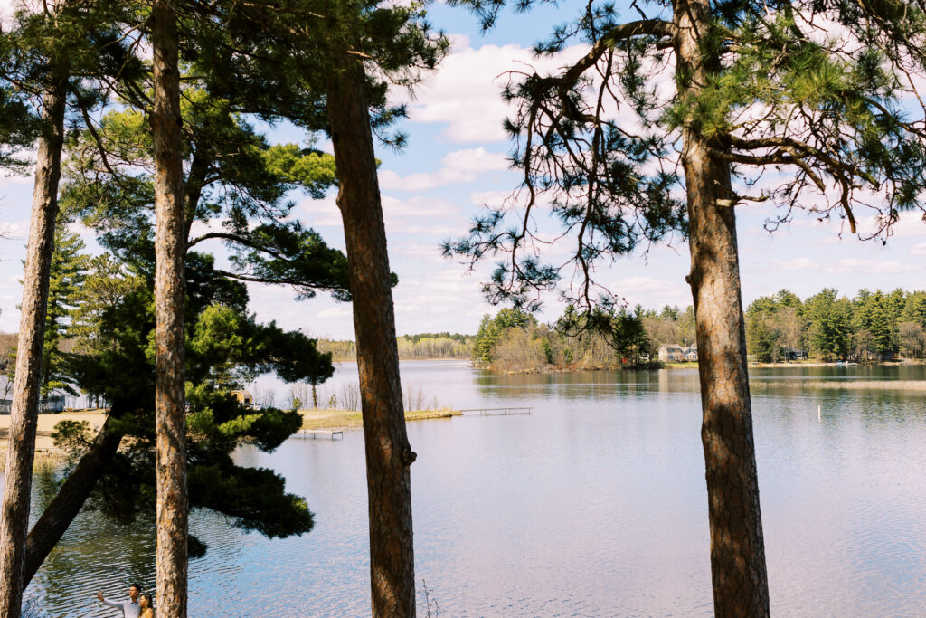
<path fill-rule="evenodd" d="M 11 618 L 21 612 L 44 324 L 69 96 L 85 110 L 94 99 L 106 97 L 104 89 L 94 88 L 95 84 L 117 70 L 132 73 L 132 63 L 125 61 L 127 44 L 114 36 L 112 29 L 114 15 L 122 10 L 120 3 L 83 5 L 62 0 L 45 4 L 44 10 L 35 14 L 20 10 L 14 29 L 3 37 L 2 51 L 8 61 L 0 70 L 5 84 L 16 83 L 41 110 L 10 445 L 0 509 L 0 614 Z M 98 91 L 95 95 L 94 90 Z M 0 121 L 0 134 L 9 134 L 10 120 L 14 119 Z"/>

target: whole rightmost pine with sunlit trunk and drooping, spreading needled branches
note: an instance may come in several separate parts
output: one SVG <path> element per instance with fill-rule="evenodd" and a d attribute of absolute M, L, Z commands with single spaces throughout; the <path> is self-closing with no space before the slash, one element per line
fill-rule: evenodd
<path fill-rule="evenodd" d="M 475 9 L 488 27 L 506 3 L 455 4 Z M 715 612 L 768 615 L 735 208 L 778 202 L 785 210 L 770 221 L 774 228 L 817 192 L 827 197 L 813 207 L 818 216 L 842 217 L 856 233 L 857 209 L 870 206 L 865 188 L 881 198 L 876 234 L 886 234 L 900 211 L 922 209 L 926 132 L 907 120 L 898 98 L 913 94 L 906 76 L 926 59 L 926 19 L 906 3 L 827 0 L 675 0 L 632 8 L 634 19 L 621 22 L 614 5 L 588 3 L 536 48 L 555 53 L 581 41 L 590 46 L 584 56 L 554 75 L 529 69 L 512 76 L 506 95 L 519 109 L 507 127 L 524 174 L 523 223 L 510 231 L 504 212 L 490 212 L 476 233 L 447 249 L 476 259 L 514 252 L 494 276 L 494 294 L 529 302 L 567 274 L 524 250 L 538 195 L 551 194 L 554 214 L 578 247 L 574 266 L 583 284 L 571 300 L 589 306 L 597 294 L 596 259 L 671 229 L 687 233 Z M 832 37 L 823 21 L 838 23 L 857 49 Z M 665 67 L 674 69 L 674 91 L 657 82 Z M 635 119 L 617 120 L 615 108 Z M 681 149 L 677 157 L 670 145 Z M 782 182 L 747 195 L 763 170 L 782 171 Z M 679 185 L 684 206 L 673 198 Z"/>

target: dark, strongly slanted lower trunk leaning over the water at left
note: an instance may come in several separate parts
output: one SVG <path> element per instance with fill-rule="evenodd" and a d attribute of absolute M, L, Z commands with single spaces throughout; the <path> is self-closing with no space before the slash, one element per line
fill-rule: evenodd
<path fill-rule="evenodd" d="M 77 466 L 68 475 L 68 480 L 58 489 L 55 498 L 45 508 L 39 521 L 32 526 L 26 542 L 26 558 L 23 568 L 23 587 L 29 586 L 32 577 L 42 566 L 45 558 L 55 549 L 68 526 L 81 512 L 103 468 L 116 455 L 122 434 L 109 427 L 114 410 L 110 410 L 106 423 L 94 438 L 93 444 L 83 454 Z"/>

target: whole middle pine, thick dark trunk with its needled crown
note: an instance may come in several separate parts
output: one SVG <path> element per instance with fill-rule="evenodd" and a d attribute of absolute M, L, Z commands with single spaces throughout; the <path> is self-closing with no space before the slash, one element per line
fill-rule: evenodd
<path fill-rule="evenodd" d="M 390 84 L 413 86 L 421 70 L 443 55 L 446 42 L 428 31 L 417 4 L 281 0 L 228 3 L 227 10 L 226 32 L 235 42 L 232 65 L 259 75 L 268 85 L 265 92 L 279 88 L 282 100 L 304 97 L 306 112 L 286 112 L 288 119 L 312 129 L 321 120 L 332 138 L 350 289 L 363 298 L 354 303 L 354 324 L 367 454 L 372 613 L 413 616 L 409 471 L 416 455 L 402 410 L 393 277 L 373 135 L 404 113 L 386 105 Z M 279 82 L 267 84 L 274 81 L 269 76 Z M 231 79 L 217 76 L 215 83 L 229 95 Z M 325 114 L 319 119 L 310 109 Z M 398 135 L 389 142 L 401 145 L 403 139 Z"/>

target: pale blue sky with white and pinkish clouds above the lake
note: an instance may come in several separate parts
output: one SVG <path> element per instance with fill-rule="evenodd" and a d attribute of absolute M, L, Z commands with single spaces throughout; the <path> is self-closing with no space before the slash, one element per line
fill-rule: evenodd
<path fill-rule="evenodd" d="M 8 2 L 0 2 L 0 10 Z M 498 203 L 519 183 L 510 170 L 509 143 L 502 123 L 510 109 L 499 93 L 507 71 L 527 66 L 552 70 L 562 58 L 538 60 L 531 44 L 576 13 L 576 3 L 544 6 L 527 15 L 505 14 L 494 31 L 482 33 L 474 17 L 460 8 L 437 3 L 429 9 L 432 25 L 443 30 L 452 51 L 439 68 L 407 100 L 409 118 L 398 128 L 407 132 L 401 153 L 378 146 L 382 159 L 380 185 L 389 243 L 390 267 L 398 274 L 394 288 L 398 334 L 426 332 L 475 333 L 482 315 L 494 312 L 482 296 L 492 260 L 469 272 L 456 260 L 442 258 L 443 240 L 466 235 L 473 216 L 486 203 Z M 404 95 L 396 95 L 402 97 Z M 273 142 L 299 142 L 305 136 L 279 128 Z M 321 144 L 322 148 L 327 145 Z M 294 216 L 315 228 L 332 246 L 344 248 L 340 213 L 334 195 L 313 200 L 294 195 Z M 31 204 L 31 177 L 0 177 L 0 331 L 19 328 L 25 255 Z M 737 233 L 744 302 L 787 288 L 806 298 L 823 287 L 846 296 L 860 288 L 926 289 L 926 222 L 906 215 L 886 245 L 860 241 L 841 221 L 818 221 L 798 212 L 793 221 L 769 233 L 765 221 L 774 207 L 755 204 L 737 208 Z M 862 231 L 873 221 L 860 221 Z M 92 234 L 82 230 L 93 248 Z M 598 278 L 631 305 L 658 309 L 665 304 L 692 303 L 684 276 L 689 270 L 688 246 L 675 238 L 671 246 L 648 246 L 645 253 L 621 258 L 598 271 Z M 564 249 L 554 249 L 562 251 Z M 349 304 L 326 295 L 296 302 L 288 288 L 252 285 L 251 307 L 259 319 L 313 336 L 353 338 Z M 357 299 L 362 302 L 362 299 Z M 562 306 L 544 303 L 542 320 L 553 320 Z"/>

